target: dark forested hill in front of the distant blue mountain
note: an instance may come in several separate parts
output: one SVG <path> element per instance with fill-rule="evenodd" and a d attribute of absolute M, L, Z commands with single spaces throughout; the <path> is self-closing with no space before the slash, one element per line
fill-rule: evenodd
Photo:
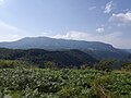
<path fill-rule="evenodd" d="M 47 51 L 43 49 L 0 49 L 0 59 L 22 60 L 39 66 L 44 66 L 45 61 L 57 63 L 61 68 L 80 66 L 82 64 L 93 65 L 98 62 L 95 58 L 80 50 Z"/>

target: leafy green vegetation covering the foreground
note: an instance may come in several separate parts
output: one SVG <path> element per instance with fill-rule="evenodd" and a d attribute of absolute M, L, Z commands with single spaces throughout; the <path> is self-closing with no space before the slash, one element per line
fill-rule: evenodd
<path fill-rule="evenodd" d="M 5 62 L 11 63 L 11 61 L 2 63 Z M 0 98 L 130 98 L 131 96 L 130 72 L 105 72 L 88 68 L 57 70 L 50 68 L 52 62 L 45 64 L 48 69 L 22 68 L 19 64 L 13 69 L 12 66 L 0 69 Z"/>

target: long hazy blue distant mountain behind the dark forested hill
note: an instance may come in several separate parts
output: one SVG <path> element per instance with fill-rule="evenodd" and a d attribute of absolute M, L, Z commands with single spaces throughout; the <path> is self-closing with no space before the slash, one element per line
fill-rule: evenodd
<path fill-rule="evenodd" d="M 99 41 L 55 39 L 48 37 L 25 37 L 17 41 L 0 42 L 0 48 L 9 49 L 45 49 L 70 50 L 78 49 L 97 59 L 124 59 L 129 56 L 126 50 L 114 48 Z"/>

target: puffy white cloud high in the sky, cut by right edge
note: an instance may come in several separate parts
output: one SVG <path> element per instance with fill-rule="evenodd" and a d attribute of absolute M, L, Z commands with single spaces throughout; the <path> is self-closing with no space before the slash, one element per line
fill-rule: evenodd
<path fill-rule="evenodd" d="M 114 22 L 121 25 L 131 25 L 131 12 L 112 14 L 109 22 Z"/>

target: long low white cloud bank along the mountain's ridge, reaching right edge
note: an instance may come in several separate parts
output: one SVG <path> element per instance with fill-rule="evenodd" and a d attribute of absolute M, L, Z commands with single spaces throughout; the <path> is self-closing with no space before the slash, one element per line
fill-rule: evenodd
<path fill-rule="evenodd" d="M 131 39 L 122 38 L 123 33 L 115 32 L 110 34 L 91 34 L 91 33 L 83 33 L 83 32 L 69 32 L 64 35 L 56 35 L 51 36 L 52 38 L 63 38 L 63 39 L 75 39 L 75 40 L 87 40 L 87 41 L 103 41 L 107 44 L 111 44 L 115 47 L 119 48 L 130 48 Z"/>

